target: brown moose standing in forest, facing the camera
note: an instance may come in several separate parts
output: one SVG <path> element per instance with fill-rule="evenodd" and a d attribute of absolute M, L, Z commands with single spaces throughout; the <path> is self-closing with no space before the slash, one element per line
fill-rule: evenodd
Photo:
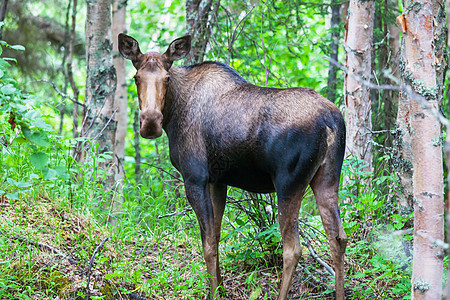
<path fill-rule="evenodd" d="M 210 297 L 223 287 L 218 245 L 227 186 L 276 192 L 283 243 L 278 299 L 287 299 L 301 256 L 300 204 L 310 185 L 330 245 L 336 299 L 344 299 L 347 236 L 338 189 L 345 123 L 339 109 L 311 89 L 253 85 L 223 63 L 172 66 L 189 53 L 190 36 L 175 39 L 163 54 L 142 53 L 123 33 L 118 41 L 137 70 L 140 135 L 154 139 L 164 129 L 170 160 L 183 177 L 200 225 Z"/>

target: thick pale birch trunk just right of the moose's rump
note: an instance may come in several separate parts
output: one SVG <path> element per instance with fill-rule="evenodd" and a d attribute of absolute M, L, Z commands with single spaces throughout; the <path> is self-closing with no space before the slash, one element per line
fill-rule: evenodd
<path fill-rule="evenodd" d="M 344 38 L 345 119 L 347 123 L 346 155 L 363 160 L 364 170 L 372 170 L 372 110 L 370 89 L 361 79 L 370 80 L 372 70 L 372 37 L 374 1 L 351 0 Z"/>

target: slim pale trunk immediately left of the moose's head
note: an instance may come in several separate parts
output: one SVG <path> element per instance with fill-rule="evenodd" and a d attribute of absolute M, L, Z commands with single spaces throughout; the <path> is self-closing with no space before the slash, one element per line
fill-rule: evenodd
<path fill-rule="evenodd" d="M 113 14 L 112 14 L 112 35 L 113 35 L 113 58 L 114 67 L 117 74 L 117 88 L 115 93 L 115 107 L 117 110 L 116 120 L 117 129 L 114 144 L 114 155 L 118 160 L 118 170 L 115 174 L 115 182 L 119 185 L 119 190 L 123 185 L 123 178 L 125 176 L 124 161 L 125 161 L 125 137 L 127 135 L 127 119 L 128 119 L 128 103 L 127 103 L 127 82 L 126 75 L 126 62 L 125 59 L 119 54 L 118 40 L 119 33 L 126 31 L 125 15 L 126 15 L 127 0 L 114 0 L 113 2 Z M 114 199 L 113 210 L 114 212 L 120 212 L 123 198 L 121 192 L 116 194 Z M 114 215 L 114 214 L 113 214 Z"/>

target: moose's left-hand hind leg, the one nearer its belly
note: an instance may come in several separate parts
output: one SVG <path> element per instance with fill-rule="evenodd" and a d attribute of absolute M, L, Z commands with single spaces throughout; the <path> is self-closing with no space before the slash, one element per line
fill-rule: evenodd
<path fill-rule="evenodd" d="M 278 222 L 283 241 L 283 277 L 278 300 L 287 299 L 292 277 L 302 255 L 298 232 L 298 213 L 305 187 L 294 196 L 278 195 Z"/>

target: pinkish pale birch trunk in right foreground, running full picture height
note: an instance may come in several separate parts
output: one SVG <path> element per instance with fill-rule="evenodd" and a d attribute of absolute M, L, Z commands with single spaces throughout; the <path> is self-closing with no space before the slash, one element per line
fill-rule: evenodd
<path fill-rule="evenodd" d="M 403 80 L 438 110 L 443 94 L 445 48 L 441 1 L 403 1 Z M 445 36 L 445 35 L 444 35 Z M 440 60 L 442 59 L 442 61 Z M 441 124 L 423 104 L 409 99 L 414 193 L 412 299 L 441 299 L 444 239 Z"/>

